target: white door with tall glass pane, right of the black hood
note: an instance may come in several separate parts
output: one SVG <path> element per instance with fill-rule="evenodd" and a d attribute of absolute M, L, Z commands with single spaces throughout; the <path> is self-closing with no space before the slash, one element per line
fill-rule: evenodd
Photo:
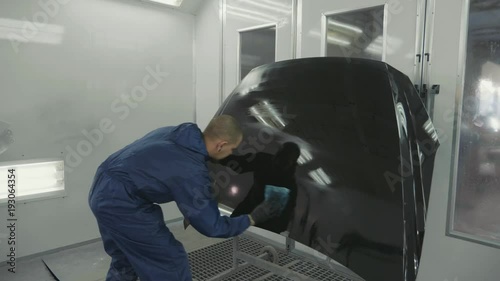
<path fill-rule="evenodd" d="M 500 275 L 500 0 L 433 0 L 436 154 L 418 281 Z M 430 14 L 430 13 L 428 13 Z"/>

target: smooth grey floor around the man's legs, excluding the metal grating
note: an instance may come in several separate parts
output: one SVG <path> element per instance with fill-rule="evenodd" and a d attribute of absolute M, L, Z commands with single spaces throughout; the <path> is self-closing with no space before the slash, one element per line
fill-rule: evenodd
<path fill-rule="evenodd" d="M 168 227 L 187 252 L 225 240 L 203 236 L 193 227 L 184 230 L 182 221 L 171 223 Z M 50 255 L 21 259 L 16 265 L 14 274 L 7 271 L 8 266 L 1 266 L 0 281 L 57 280 L 47 267 L 61 281 L 101 281 L 105 280 L 110 260 L 111 258 L 104 252 L 102 242 L 98 241 Z"/>

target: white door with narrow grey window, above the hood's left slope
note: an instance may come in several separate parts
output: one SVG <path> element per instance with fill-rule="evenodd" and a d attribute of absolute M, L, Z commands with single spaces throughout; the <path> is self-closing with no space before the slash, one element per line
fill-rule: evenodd
<path fill-rule="evenodd" d="M 295 0 L 223 1 L 223 98 L 253 67 L 294 57 Z"/>

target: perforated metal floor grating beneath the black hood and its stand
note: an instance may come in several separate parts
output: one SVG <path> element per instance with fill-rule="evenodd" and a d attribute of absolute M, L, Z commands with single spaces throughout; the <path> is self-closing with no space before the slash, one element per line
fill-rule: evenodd
<path fill-rule="evenodd" d="M 265 245 L 247 237 L 239 239 L 240 251 L 249 255 L 258 256 Z M 352 281 L 336 272 L 328 270 L 325 267 L 318 266 L 312 262 L 305 261 L 295 254 L 287 254 L 278 250 L 280 266 L 288 267 L 294 272 L 303 274 L 319 281 Z M 217 244 L 202 248 L 189 253 L 191 271 L 194 280 L 204 281 L 228 271 L 233 264 L 233 241 L 227 239 Z M 265 269 L 254 265 L 242 265 L 238 270 L 226 275 L 222 281 L 292 281 L 289 278 L 274 275 Z"/>

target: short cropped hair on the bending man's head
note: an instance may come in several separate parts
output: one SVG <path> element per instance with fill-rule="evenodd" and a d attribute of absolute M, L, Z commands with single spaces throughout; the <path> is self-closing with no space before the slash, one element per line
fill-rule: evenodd
<path fill-rule="evenodd" d="M 210 139 L 223 139 L 235 144 L 243 136 L 238 120 L 230 115 L 214 117 L 203 131 L 203 135 Z"/>

